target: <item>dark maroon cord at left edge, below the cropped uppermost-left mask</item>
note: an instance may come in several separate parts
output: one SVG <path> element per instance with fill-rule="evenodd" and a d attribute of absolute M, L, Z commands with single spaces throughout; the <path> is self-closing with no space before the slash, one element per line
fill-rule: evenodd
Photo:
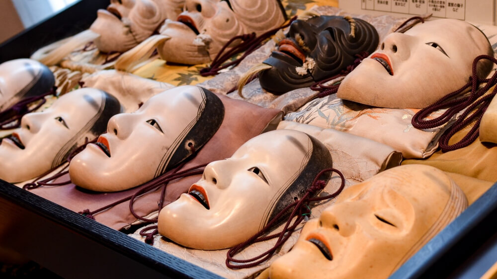
<path fill-rule="evenodd" d="M 39 96 L 32 96 L 32 97 L 27 97 L 16 104 L 12 105 L 8 109 L 0 112 L 0 119 L 3 121 L 0 122 L 0 130 L 10 130 L 14 128 L 18 128 L 21 126 L 21 118 L 30 112 L 33 112 L 37 109 L 39 109 L 43 104 L 47 102 L 45 99 L 45 96 L 48 95 L 54 95 L 57 94 L 57 86 L 53 86 L 50 91 L 43 93 Z M 35 107 L 29 108 L 29 105 L 32 103 L 41 100 Z M 14 122 L 14 124 L 11 124 Z"/>

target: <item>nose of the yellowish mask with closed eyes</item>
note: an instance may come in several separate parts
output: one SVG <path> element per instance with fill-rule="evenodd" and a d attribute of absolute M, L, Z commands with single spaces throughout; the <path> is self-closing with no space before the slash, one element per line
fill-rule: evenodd
<path fill-rule="evenodd" d="M 355 220 L 350 214 L 353 210 L 343 204 L 333 205 L 321 213 L 319 226 L 336 230 L 343 237 L 350 236 L 355 231 Z"/>

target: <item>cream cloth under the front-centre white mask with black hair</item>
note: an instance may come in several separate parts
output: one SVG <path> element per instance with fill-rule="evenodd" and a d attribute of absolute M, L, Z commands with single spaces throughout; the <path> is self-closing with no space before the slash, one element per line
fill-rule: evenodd
<path fill-rule="evenodd" d="M 318 127 L 292 122 L 282 122 L 277 129 L 293 129 L 302 131 L 323 141 L 330 150 L 331 157 L 333 159 L 333 168 L 340 170 L 345 176 L 345 187 L 366 180 L 378 173 L 380 170 L 399 165 L 401 161 L 400 153 L 395 152 L 393 148 L 387 145 L 339 131 L 325 130 Z M 333 173 L 330 182 L 324 190 L 325 193 L 322 193 L 321 195 L 334 193 L 339 188 L 340 183 L 341 181 L 339 176 L 336 173 Z M 329 207 L 333 202 L 334 199 L 323 201 L 315 207 L 312 207 L 311 218 L 318 217 L 321 212 L 325 208 Z M 269 261 L 249 269 L 228 269 L 225 265 L 225 261 L 226 254 L 229 249 L 215 251 L 189 249 L 179 246 L 173 242 L 169 242 L 159 235 L 154 238 L 154 247 L 211 271 L 219 276 L 230 279 L 246 278 L 259 273 L 263 269 L 267 268 L 275 259 L 288 252 L 297 241 L 303 225 L 304 222 L 299 224 L 296 231 L 292 234 L 288 241 Z M 283 225 L 279 226 L 273 232 L 281 231 L 282 227 Z M 144 238 L 140 236 L 139 231 L 135 232 L 131 236 L 138 240 L 144 241 Z M 251 245 L 235 258 L 249 259 L 257 256 L 271 248 L 275 241 L 276 240 L 273 239 Z"/>

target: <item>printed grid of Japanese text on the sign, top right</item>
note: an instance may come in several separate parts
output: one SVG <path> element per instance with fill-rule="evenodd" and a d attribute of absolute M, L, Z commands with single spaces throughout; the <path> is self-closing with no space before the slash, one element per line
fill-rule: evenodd
<path fill-rule="evenodd" d="M 466 0 L 361 0 L 361 8 L 418 15 L 432 13 L 435 17 L 466 19 Z"/>

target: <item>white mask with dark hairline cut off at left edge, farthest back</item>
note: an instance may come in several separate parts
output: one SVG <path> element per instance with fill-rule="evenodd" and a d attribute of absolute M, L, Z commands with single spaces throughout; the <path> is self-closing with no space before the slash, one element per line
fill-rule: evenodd
<path fill-rule="evenodd" d="M 55 78 L 45 65 L 31 59 L 15 59 L 0 64 L 0 111 L 21 99 L 47 93 Z"/>

